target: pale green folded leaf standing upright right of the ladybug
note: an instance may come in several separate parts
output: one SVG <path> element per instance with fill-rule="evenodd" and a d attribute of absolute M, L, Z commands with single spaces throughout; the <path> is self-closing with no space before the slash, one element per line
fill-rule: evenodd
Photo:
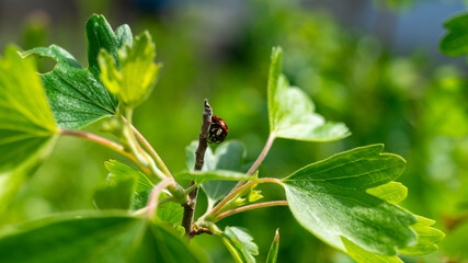
<path fill-rule="evenodd" d="M 289 87 L 281 76 L 283 50 L 274 47 L 270 66 L 267 98 L 270 132 L 276 137 L 308 141 L 330 141 L 350 135 L 342 123 L 326 122 L 304 91 Z"/>

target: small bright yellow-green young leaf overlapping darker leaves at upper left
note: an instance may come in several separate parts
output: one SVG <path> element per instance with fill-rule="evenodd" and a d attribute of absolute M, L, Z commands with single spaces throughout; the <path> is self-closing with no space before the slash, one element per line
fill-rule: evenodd
<path fill-rule="evenodd" d="M 127 106 L 139 105 L 150 94 L 156 84 L 161 65 L 153 62 L 156 46 L 146 31 L 135 37 L 132 44 L 118 50 L 118 66 L 105 49 L 99 54 L 101 79 L 104 85 Z"/>

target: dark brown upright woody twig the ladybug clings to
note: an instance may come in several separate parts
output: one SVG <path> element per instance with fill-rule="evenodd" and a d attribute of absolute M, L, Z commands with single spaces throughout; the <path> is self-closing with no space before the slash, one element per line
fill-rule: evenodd
<path fill-rule="evenodd" d="M 202 130 L 198 137 L 198 148 L 195 151 L 195 170 L 201 171 L 204 164 L 205 151 L 208 147 L 208 132 L 209 126 L 212 125 L 212 116 L 213 110 L 208 104 L 208 100 L 205 99 L 205 108 L 203 111 L 203 122 L 202 122 Z M 191 182 L 189 187 L 195 184 L 194 181 Z M 184 215 L 182 218 L 182 227 L 185 229 L 185 236 L 191 237 L 192 228 L 193 228 L 193 215 L 195 213 L 196 206 L 196 196 L 198 195 L 198 187 L 195 187 L 192 192 L 189 193 L 187 203 L 183 204 Z"/>

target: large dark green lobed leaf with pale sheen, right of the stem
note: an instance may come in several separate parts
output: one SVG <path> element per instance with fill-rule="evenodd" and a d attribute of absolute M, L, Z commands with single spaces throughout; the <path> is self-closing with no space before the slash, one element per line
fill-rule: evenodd
<path fill-rule="evenodd" d="M 406 161 L 381 153 L 383 145 L 341 152 L 283 180 L 296 219 L 329 244 L 345 251 L 341 237 L 366 251 L 395 255 L 416 242 L 411 213 L 366 190 L 400 176 Z"/>

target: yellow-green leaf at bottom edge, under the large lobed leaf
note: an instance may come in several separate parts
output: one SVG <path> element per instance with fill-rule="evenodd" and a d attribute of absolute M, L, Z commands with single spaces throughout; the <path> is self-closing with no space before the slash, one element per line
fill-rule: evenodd
<path fill-rule="evenodd" d="M 346 248 L 347 255 L 350 255 L 351 259 L 355 260 L 357 263 L 403 263 L 396 255 L 381 255 L 368 252 L 362 249 L 359 245 L 356 245 L 355 243 L 351 242 L 346 238 L 341 237 L 341 241 Z"/>

